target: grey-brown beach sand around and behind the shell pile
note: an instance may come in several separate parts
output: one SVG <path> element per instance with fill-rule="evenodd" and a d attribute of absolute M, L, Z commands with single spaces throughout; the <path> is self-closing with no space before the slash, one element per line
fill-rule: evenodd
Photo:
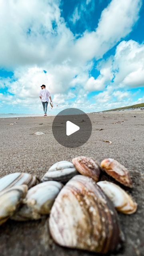
<path fill-rule="evenodd" d="M 0 177 L 12 172 L 28 172 L 42 178 L 55 162 L 71 161 L 79 155 L 92 156 L 99 163 L 104 158 L 118 160 L 130 170 L 134 188 L 126 190 L 135 198 L 138 210 L 130 216 L 118 214 L 126 241 L 123 249 L 116 255 L 144 255 L 144 112 L 107 112 L 89 114 L 89 117 L 92 122 L 92 135 L 79 148 L 64 148 L 56 142 L 52 134 L 53 116 L 19 120 L 0 118 Z M 44 132 L 44 135 L 36 136 L 35 132 Z M 110 140 L 112 144 L 109 145 L 104 140 Z M 104 174 L 102 179 L 110 180 Z M 39 221 L 22 223 L 8 220 L 0 226 L 0 256 L 7 255 L 97 254 L 56 245 L 50 238 L 48 217 L 44 217 Z"/>

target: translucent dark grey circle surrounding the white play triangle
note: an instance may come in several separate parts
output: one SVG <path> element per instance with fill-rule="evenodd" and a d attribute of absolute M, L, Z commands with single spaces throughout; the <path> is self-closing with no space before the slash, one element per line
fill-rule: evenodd
<path fill-rule="evenodd" d="M 80 127 L 73 134 L 66 135 L 66 122 Z M 78 108 L 66 108 L 59 112 L 52 123 L 52 133 L 56 141 L 66 148 L 77 148 L 88 141 L 92 133 L 92 123 L 86 113 Z"/>

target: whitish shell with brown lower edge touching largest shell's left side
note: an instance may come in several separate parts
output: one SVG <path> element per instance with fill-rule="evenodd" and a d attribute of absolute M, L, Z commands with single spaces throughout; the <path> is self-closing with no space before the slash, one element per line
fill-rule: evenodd
<path fill-rule="evenodd" d="M 30 190 L 23 200 L 24 205 L 12 216 L 13 220 L 38 220 L 43 214 L 49 214 L 52 204 L 63 185 L 56 181 L 40 183 Z"/>

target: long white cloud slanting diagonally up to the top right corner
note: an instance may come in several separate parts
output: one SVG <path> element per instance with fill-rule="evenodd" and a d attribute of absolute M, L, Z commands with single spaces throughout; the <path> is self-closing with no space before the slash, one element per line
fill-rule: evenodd
<path fill-rule="evenodd" d="M 132 31 L 138 20 L 141 0 L 112 0 L 102 11 L 96 31 L 85 32 L 76 41 L 74 57 L 88 61 L 102 58 L 121 38 Z"/>

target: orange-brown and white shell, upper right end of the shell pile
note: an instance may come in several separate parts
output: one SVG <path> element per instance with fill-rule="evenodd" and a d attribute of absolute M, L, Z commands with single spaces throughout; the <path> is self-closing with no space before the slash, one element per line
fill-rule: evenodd
<path fill-rule="evenodd" d="M 118 161 L 107 158 L 101 162 L 102 169 L 112 178 L 122 183 L 123 185 L 132 188 L 132 180 L 130 178 L 129 170 L 127 170 Z"/>

